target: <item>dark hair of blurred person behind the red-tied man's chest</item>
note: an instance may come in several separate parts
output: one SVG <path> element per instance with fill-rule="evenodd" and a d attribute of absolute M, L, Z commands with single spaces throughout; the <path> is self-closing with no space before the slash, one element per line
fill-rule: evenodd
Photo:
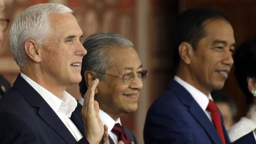
<path fill-rule="evenodd" d="M 236 114 L 237 114 L 236 103 L 226 91 L 213 90 L 211 92 L 211 97 L 214 100 L 214 103 L 227 103 L 228 106 L 230 107 L 233 120 L 236 118 Z"/>

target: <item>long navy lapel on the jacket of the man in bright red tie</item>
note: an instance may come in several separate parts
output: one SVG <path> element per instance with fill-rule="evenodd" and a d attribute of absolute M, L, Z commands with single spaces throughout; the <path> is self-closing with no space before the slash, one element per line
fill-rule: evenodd
<path fill-rule="evenodd" d="M 197 120 L 198 124 L 203 127 L 211 140 L 215 144 L 221 144 L 221 138 L 219 137 L 214 125 L 211 123 L 209 118 L 206 116 L 202 108 L 194 100 L 191 94 L 184 87 L 182 87 L 182 85 L 174 80 L 171 81 L 169 89 L 171 89 L 178 96 L 184 105 L 189 107 L 189 113 L 191 113 L 191 115 Z"/>

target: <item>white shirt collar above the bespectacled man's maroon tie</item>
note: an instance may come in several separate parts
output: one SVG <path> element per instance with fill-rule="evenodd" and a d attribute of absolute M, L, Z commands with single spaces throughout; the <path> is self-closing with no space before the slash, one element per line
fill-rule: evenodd
<path fill-rule="evenodd" d="M 116 123 L 119 123 L 122 126 L 120 118 L 117 118 L 117 120 L 115 121 L 113 120 L 113 118 L 111 118 L 111 116 L 109 116 L 107 113 L 105 113 L 101 109 L 100 109 L 100 119 L 103 125 L 106 124 L 108 126 L 108 133 L 113 129 Z"/>

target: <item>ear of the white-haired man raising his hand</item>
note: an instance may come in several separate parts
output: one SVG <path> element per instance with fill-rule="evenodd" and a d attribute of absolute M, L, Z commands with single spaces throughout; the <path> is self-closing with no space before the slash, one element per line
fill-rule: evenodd
<path fill-rule="evenodd" d="M 37 46 L 37 42 L 32 39 L 28 39 L 24 44 L 26 54 L 28 57 L 34 61 L 35 63 L 41 62 L 41 57 L 39 55 L 39 47 Z"/>

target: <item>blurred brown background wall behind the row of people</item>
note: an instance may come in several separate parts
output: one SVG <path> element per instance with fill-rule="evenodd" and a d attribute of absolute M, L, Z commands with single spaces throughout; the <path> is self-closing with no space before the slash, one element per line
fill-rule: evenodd
<path fill-rule="evenodd" d="M 94 33 L 113 32 L 135 44 L 149 75 L 140 95 L 138 111 L 121 119 L 140 144 L 144 143 L 143 126 L 147 109 L 164 92 L 174 75 L 170 33 L 180 12 L 192 7 L 210 7 L 223 12 L 234 28 L 238 45 L 256 34 L 255 0 L 14 0 L 0 17 L 9 18 L 12 23 L 26 7 L 46 2 L 64 4 L 74 10 L 85 38 Z M 13 83 L 19 74 L 19 67 L 12 59 L 9 29 L 10 26 L 0 48 L 0 73 Z M 237 104 L 236 120 L 239 120 L 248 106 L 237 86 L 233 68 L 224 89 Z M 76 98 L 80 96 L 78 85 L 72 85 L 67 91 Z"/>

